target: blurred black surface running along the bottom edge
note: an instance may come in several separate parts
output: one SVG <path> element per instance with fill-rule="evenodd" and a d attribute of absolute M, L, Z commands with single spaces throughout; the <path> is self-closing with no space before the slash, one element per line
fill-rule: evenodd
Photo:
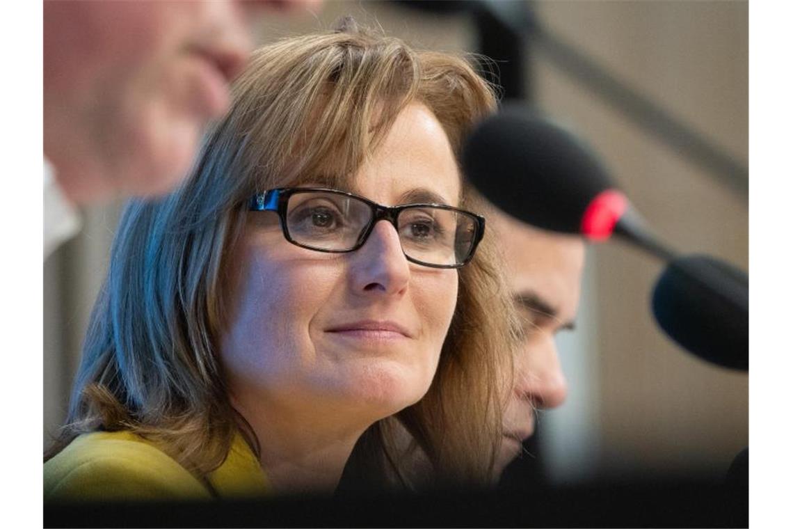
<path fill-rule="evenodd" d="M 748 491 L 736 498 L 720 484 L 668 482 L 354 498 L 46 504 L 44 527 L 747 527 Z"/>

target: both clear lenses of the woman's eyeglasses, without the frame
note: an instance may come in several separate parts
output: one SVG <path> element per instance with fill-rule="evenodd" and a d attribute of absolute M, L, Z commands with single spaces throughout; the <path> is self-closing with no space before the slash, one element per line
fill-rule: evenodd
<path fill-rule="evenodd" d="M 294 242 L 318 250 L 347 251 L 358 244 L 372 219 L 369 204 L 343 194 L 293 194 L 286 228 Z M 473 244 L 476 223 L 465 213 L 433 206 L 410 206 L 397 217 L 402 251 L 434 265 L 462 263 Z"/>

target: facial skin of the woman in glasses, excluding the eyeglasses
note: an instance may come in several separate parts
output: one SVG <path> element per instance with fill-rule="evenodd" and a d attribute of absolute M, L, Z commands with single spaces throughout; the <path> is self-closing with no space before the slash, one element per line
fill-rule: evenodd
<path fill-rule="evenodd" d="M 458 205 L 457 164 L 431 111 L 404 109 L 353 185 L 382 205 Z M 408 263 L 393 224 L 378 222 L 357 251 L 329 254 L 285 240 L 276 213 L 248 213 L 228 266 L 220 355 L 235 401 L 331 406 L 377 420 L 427 392 L 458 274 Z"/>

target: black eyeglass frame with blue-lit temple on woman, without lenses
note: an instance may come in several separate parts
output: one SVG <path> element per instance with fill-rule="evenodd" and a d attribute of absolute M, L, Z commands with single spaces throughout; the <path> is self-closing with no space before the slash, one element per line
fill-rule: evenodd
<path fill-rule="evenodd" d="M 362 201 L 364 204 L 368 205 L 372 210 L 372 218 L 369 221 L 369 224 L 366 224 L 366 227 L 363 228 L 361 235 L 358 236 L 358 240 L 355 242 L 354 246 L 348 250 L 328 250 L 327 248 L 318 248 L 313 247 L 308 244 L 299 243 L 289 235 L 289 228 L 286 227 L 286 209 L 289 205 L 289 197 L 293 194 L 301 194 L 301 193 L 331 193 L 341 195 L 343 197 L 351 197 L 358 201 Z M 447 209 L 450 211 L 454 211 L 455 213 L 460 213 L 467 217 L 473 219 L 473 226 L 474 226 L 474 233 L 473 233 L 473 240 L 471 242 L 471 247 L 468 251 L 468 255 L 465 256 L 465 259 L 462 259 L 460 263 L 454 263 L 451 265 L 439 265 L 433 263 L 425 263 L 423 261 L 419 261 L 419 259 L 414 259 L 410 255 L 404 253 L 404 248 L 402 248 L 402 254 L 405 256 L 405 259 L 408 259 L 411 263 L 416 263 L 421 266 L 429 266 L 431 268 L 462 268 L 468 264 L 471 259 L 473 259 L 474 253 L 477 251 L 477 246 L 482 240 L 482 237 L 485 236 L 485 217 L 481 215 L 477 215 L 477 213 L 471 213 L 470 211 L 465 211 L 465 209 L 455 208 L 454 206 L 445 205 L 445 204 L 433 204 L 430 202 L 427 203 L 416 203 L 416 204 L 403 204 L 403 205 L 395 205 L 395 206 L 386 206 L 377 204 L 377 202 L 370 201 L 368 198 L 358 196 L 357 194 L 347 193 L 347 191 L 341 190 L 331 190 L 324 187 L 279 187 L 277 189 L 266 190 L 262 193 L 257 193 L 251 198 L 251 204 L 249 205 L 249 211 L 274 211 L 278 213 L 278 218 L 281 221 L 281 231 L 284 234 L 284 238 L 288 240 L 290 243 L 293 243 L 295 246 L 299 246 L 301 248 L 306 248 L 308 250 L 313 251 L 322 251 L 324 253 L 329 254 L 347 254 L 351 251 L 356 251 L 360 247 L 362 247 L 367 240 L 369 240 L 369 236 L 374 230 L 375 224 L 381 220 L 388 220 L 389 223 L 393 225 L 393 227 L 399 232 L 399 225 L 397 224 L 397 218 L 399 214 L 404 211 L 404 209 L 415 209 L 421 207 L 432 207 L 436 209 Z M 400 241 L 401 243 L 401 241 Z M 401 246 L 401 244 L 400 244 Z"/>

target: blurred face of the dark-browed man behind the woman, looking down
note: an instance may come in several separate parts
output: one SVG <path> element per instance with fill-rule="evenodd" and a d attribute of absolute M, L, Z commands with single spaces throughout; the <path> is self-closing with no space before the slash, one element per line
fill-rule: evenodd
<path fill-rule="evenodd" d="M 490 216 L 492 217 L 492 216 Z M 526 341 L 515 359 L 515 387 L 504 417 L 505 435 L 496 472 L 520 454 L 534 433 L 534 408 L 556 408 L 567 397 L 555 337 L 573 328 L 584 269 L 584 243 L 574 236 L 530 228 L 498 217 L 493 228 L 505 241 L 507 267 Z M 497 475 L 498 475 L 497 474 Z"/>

